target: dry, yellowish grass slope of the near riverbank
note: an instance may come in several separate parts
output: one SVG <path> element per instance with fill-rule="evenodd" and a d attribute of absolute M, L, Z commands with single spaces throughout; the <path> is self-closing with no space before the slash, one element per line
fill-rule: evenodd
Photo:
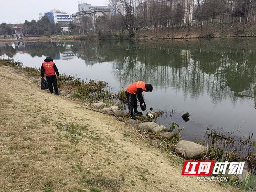
<path fill-rule="evenodd" d="M 181 176 L 178 157 L 23 71 L 0 67 L 0 76 L 2 191 L 234 191 Z"/>

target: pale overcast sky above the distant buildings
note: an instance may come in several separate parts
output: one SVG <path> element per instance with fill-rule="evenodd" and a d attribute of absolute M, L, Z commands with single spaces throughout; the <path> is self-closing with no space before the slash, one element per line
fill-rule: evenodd
<path fill-rule="evenodd" d="M 106 5 L 108 0 L 79 0 L 92 5 Z M 0 24 L 39 20 L 39 13 L 60 9 L 70 14 L 78 12 L 78 0 L 0 0 Z"/>

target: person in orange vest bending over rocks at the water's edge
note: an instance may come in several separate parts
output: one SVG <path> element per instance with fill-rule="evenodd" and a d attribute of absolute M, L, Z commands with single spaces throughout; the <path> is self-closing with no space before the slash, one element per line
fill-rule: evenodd
<path fill-rule="evenodd" d="M 125 91 L 125 95 L 127 97 L 127 102 L 128 102 L 128 110 L 129 113 L 131 115 L 131 118 L 136 120 L 137 117 L 135 115 L 142 115 L 142 112 L 139 112 L 137 110 L 137 98 L 136 95 L 138 97 L 138 100 L 140 102 L 140 108 L 142 109 L 142 111 L 146 110 L 146 104 L 145 101 L 143 99 L 142 96 L 142 92 L 152 92 L 153 87 L 151 84 L 146 84 L 143 81 L 138 81 L 135 83 L 130 84 L 130 86 L 127 87 L 126 91 Z"/>

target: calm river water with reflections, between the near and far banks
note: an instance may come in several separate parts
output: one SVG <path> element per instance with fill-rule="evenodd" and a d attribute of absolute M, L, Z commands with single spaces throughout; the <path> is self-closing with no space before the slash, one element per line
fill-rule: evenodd
<path fill-rule="evenodd" d="M 159 124 L 184 127 L 183 139 L 204 138 L 207 128 L 255 133 L 255 38 L 0 44 L 0 58 L 24 66 L 39 68 L 46 56 L 60 73 L 106 81 L 114 92 L 138 80 L 152 84 L 147 106 L 166 112 Z"/>

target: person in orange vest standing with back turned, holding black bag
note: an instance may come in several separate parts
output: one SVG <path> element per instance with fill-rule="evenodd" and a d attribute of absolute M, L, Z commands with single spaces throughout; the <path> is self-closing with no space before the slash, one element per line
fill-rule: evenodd
<path fill-rule="evenodd" d="M 41 76 L 44 78 L 46 74 L 46 80 L 49 84 L 50 93 L 53 93 L 53 87 L 55 95 L 59 95 L 58 86 L 57 86 L 57 77 L 56 74 L 59 76 L 59 71 L 51 57 L 46 57 L 45 62 L 42 63 L 41 67 Z M 52 86 L 53 85 L 53 86 Z"/>

